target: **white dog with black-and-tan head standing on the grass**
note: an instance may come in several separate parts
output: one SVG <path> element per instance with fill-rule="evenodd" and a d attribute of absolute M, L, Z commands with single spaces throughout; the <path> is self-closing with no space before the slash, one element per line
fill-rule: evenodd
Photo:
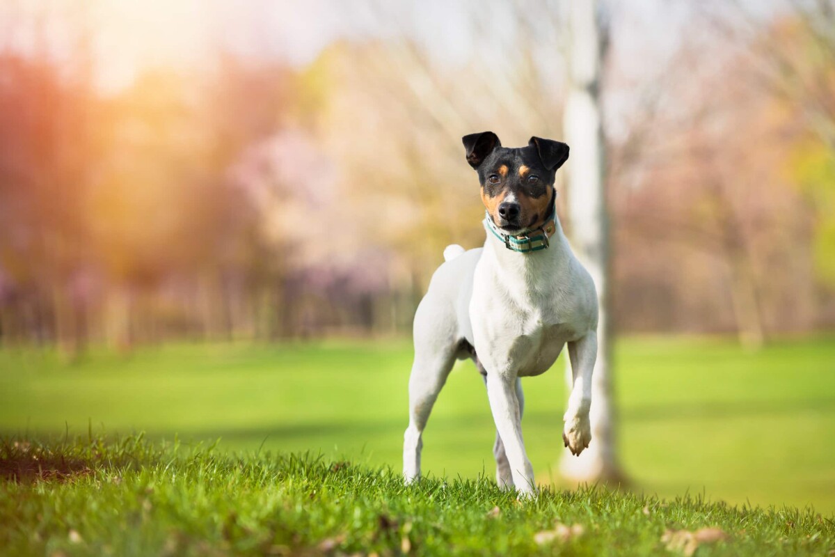
<path fill-rule="evenodd" d="M 522 440 L 521 377 L 546 372 L 567 344 L 573 371 L 563 441 L 574 455 L 591 440 L 591 375 L 597 358 L 595 283 L 565 239 L 554 176 L 569 146 L 533 137 L 502 147 L 493 132 L 463 137 L 486 208 L 484 246 L 448 246 L 414 317 L 403 476 L 420 478 L 423 429 L 456 359 L 472 358 L 496 423 L 496 481 L 536 493 Z"/>

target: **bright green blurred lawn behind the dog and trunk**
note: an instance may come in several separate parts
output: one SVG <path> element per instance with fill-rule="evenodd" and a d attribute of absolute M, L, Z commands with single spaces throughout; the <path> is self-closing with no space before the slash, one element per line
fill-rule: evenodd
<path fill-rule="evenodd" d="M 220 449 L 321 451 L 400 466 L 411 346 L 163 345 L 130 356 L 0 352 L 0 433 L 221 438 Z M 620 448 L 635 489 L 835 513 L 835 338 L 749 354 L 723 340 L 630 338 L 616 351 Z M 524 381 L 539 482 L 558 481 L 563 362 Z M 424 435 L 424 469 L 493 473 L 493 423 L 472 364 L 456 367 Z"/>

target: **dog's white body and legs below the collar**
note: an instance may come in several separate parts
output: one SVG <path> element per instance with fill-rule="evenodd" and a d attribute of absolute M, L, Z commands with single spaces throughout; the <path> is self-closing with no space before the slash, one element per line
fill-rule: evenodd
<path fill-rule="evenodd" d="M 595 283 L 555 218 L 546 250 L 510 251 L 488 231 L 483 248 L 449 246 L 414 319 L 409 425 L 403 475 L 420 476 L 422 433 L 455 359 L 473 357 L 487 385 L 496 423 L 498 484 L 535 492 L 524 450 L 520 377 L 549 369 L 567 344 L 574 373 L 564 413 L 564 443 L 579 454 L 591 440 L 591 374 L 597 356 Z"/>

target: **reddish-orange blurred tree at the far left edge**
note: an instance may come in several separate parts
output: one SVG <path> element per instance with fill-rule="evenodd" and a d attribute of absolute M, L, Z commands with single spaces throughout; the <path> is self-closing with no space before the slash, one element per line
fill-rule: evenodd
<path fill-rule="evenodd" d="M 8 43 L 0 47 L 0 271 L 28 323 L 6 316 L 4 329 L 27 327 L 36 337 L 55 338 L 73 358 L 86 337 L 89 294 L 82 285 L 90 254 L 80 206 L 95 110 L 89 37 L 83 29 L 68 35 L 76 63 L 60 68 L 47 13 L 17 17 L 32 48 L 24 54 Z"/>

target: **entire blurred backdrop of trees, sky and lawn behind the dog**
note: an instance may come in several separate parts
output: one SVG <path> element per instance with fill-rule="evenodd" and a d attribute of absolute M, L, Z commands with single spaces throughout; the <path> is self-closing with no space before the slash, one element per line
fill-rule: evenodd
<path fill-rule="evenodd" d="M 0 433 L 398 468 L 412 313 L 483 242 L 460 138 L 563 138 L 566 5 L 5 0 Z M 832 514 L 835 3 L 601 10 L 624 473 Z M 546 483 L 563 367 L 529 380 Z M 492 440 L 462 363 L 425 468 Z"/>

